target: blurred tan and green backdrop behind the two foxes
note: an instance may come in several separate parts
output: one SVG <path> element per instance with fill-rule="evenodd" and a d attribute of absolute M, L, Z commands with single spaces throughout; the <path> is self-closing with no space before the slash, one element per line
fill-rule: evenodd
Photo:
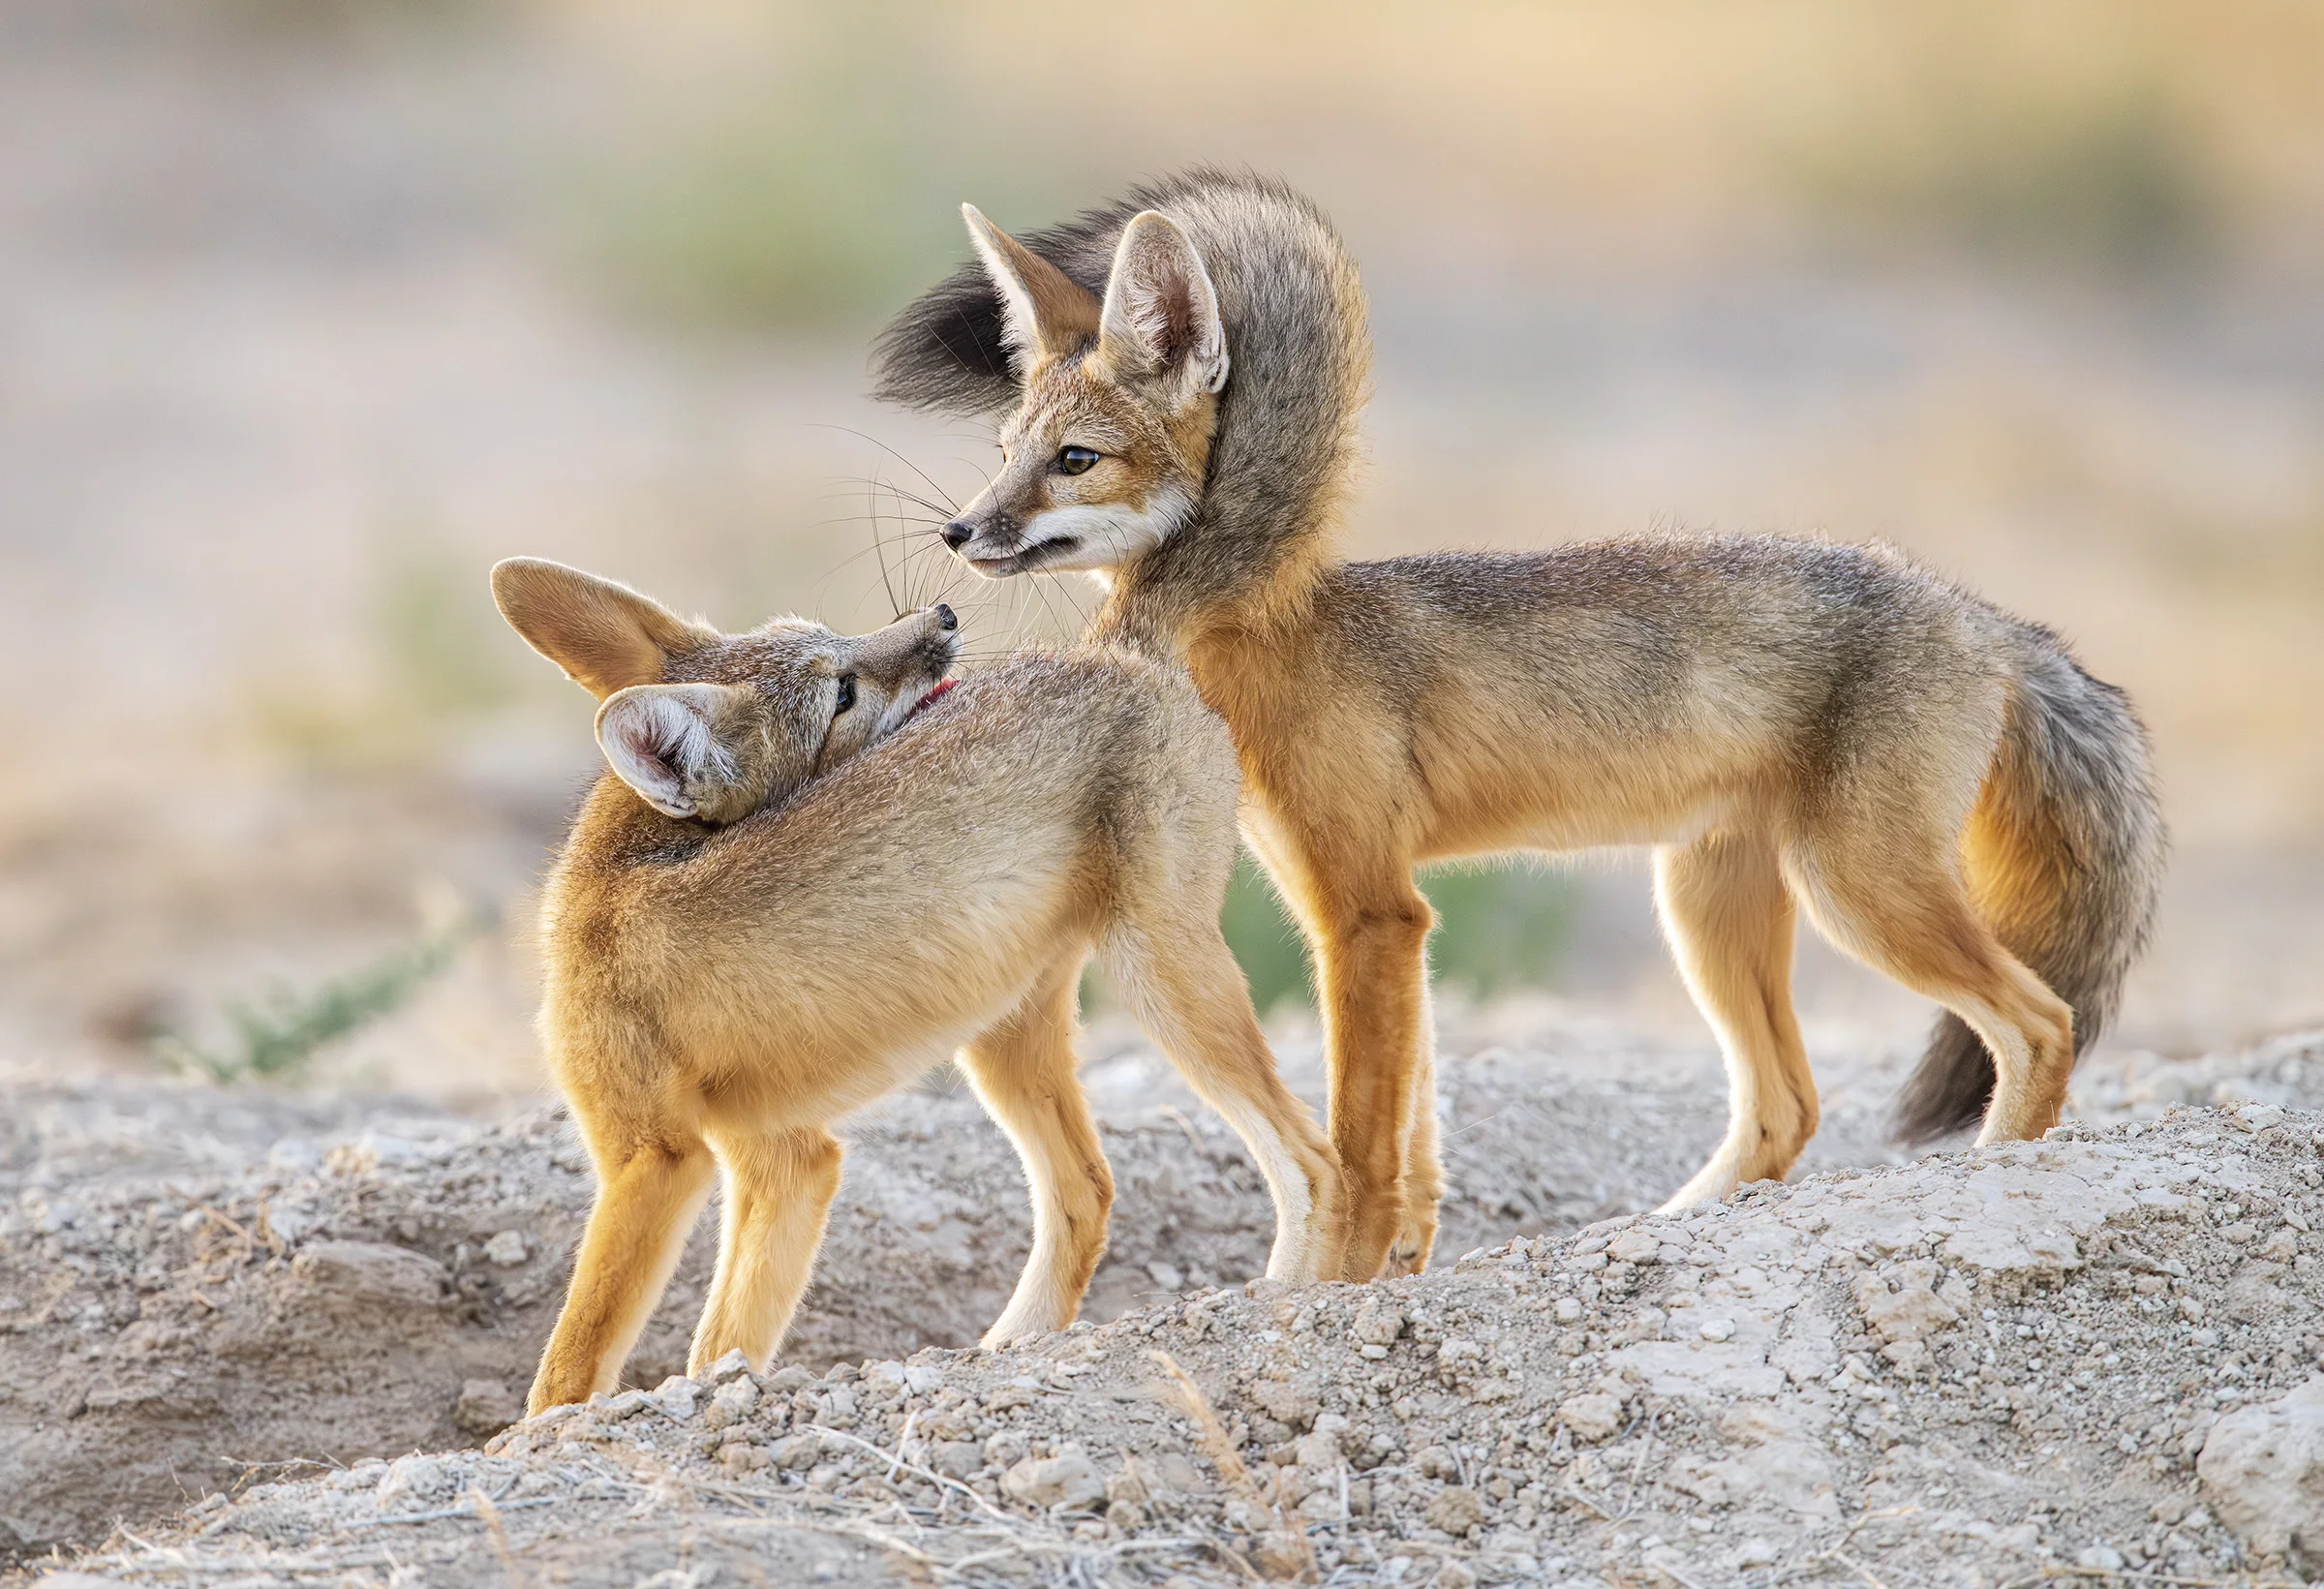
<path fill-rule="evenodd" d="M 1311 190 L 1364 267 L 1353 555 L 1910 548 L 2154 729 L 2178 855 L 2119 1041 L 2324 1020 L 2305 0 L 9 0 L 0 1076 L 537 1092 L 590 704 L 486 567 L 885 618 L 892 488 L 992 451 L 869 404 L 869 335 L 960 200 L 1037 225 L 1188 160 Z M 985 641 L 1090 602 L 971 585 Z M 1636 857 L 1427 887 L 1450 1008 L 1706 1036 Z M 1229 925 L 1297 1027 L 1262 885 Z M 1801 1004 L 1822 1043 L 1927 1018 L 1813 946 Z"/>

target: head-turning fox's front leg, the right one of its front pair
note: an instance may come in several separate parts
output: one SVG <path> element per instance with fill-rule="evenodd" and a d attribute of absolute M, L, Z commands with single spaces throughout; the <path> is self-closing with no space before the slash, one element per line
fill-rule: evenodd
<path fill-rule="evenodd" d="M 725 1208 L 718 1275 L 695 1326 L 686 1373 L 700 1375 L 734 1350 L 765 1371 L 783 1345 L 823 1245 L 823 1222 L 839 1192 L 839 1141 L 820 1127 L 713 1127 L 709 1136 L 725 1169 Z"/>

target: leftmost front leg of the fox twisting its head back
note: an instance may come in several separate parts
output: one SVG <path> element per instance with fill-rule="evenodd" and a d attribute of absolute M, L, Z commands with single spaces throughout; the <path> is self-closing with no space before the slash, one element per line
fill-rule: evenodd
<path fill-rule="evenodd" d="M 614 1389 L 679 1266 L 716 1169 L 702 1138 L 676 1122 L 600 1122 L 576 1113 L 597 1162 L 597 1203 L 525 1412 Z"/>

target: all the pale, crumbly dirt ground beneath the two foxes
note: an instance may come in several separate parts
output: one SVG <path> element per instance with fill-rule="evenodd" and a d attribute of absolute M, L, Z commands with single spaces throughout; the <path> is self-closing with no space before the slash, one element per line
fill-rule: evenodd
<path fill-rule="evenodd" d="M 999 1550 L 1025 1573 L 1099 1556 L 1213 1573 L 1234 1570 L 1220 1550 L 1283 1566 L 1299 1538 L 1367 1575 L 1452 1582 L 1620 1582 L 1650 1559 L 1692 1561 L 1680 1582 L 1752 1577 L 1810 1543 L 1994 1573 L 2031 1570 L 2043 1550 L 2210 1568 L 2240 1540 L 2298 1550 L 2224 1501 L 2189 1510 L 2187 1464 L 2222 1408 L 2289 1394 L 2315 1368 L 2317 1122 L 2284 1106 L 2319 1101 L 2324 1045 L 2131 1057 L 2082 1087 L 2103 1117 L 2185 1099 L 2240 1115 L 2171 1113 L 2099 1141 L 2071 1127 L 1557 1241 L 1692 1169 L 1720 1129 L 1710 1066 L 1585 1031 L 1448 1064 L 1450 1243 L 1520 1243 L 1397 1287 L 1253 1299 L 1169 1294 L 1260 1266 L 1255 1173 L 1162 1066 L 1097 1064 L 1122 1196 L 1092 1317 L 1116 1322 L 906 1366 L 885 1359 L 974 1340 L 997 1313 L 1025 1217 L 971 1101 L 899 1099 L 855 1134 L 797 1366 L 528 1424 L 490 1459 L 393 1468 L 365 1459 L 460 1447 L 516 1412 L 588 1194 L 558 1122 L 198 1090 L 23 1094 L 0 1136 L 14 1182 L 0 1201 L 0 1519 L 26 1543 L 93 1540 L 114 1517 L 242 1482 L 239 1501 L 172 1524 L 205 1582 L 239 1570 L 232 1552 L 253 1540 L 279 1556 L 253 1559 L 256 1577 L 376 1550 L 442 1554 L 430 1577 L 497 1573 L 500 1533 L 476 1536 L 462 1498 L 479 1487 L 528 1561 L 593 1582 L 655 1552 L 667 1566 L 681 1538 L 697 1561 L 741 1561 L 762 1550 L 751 1538 L 795 1526 L 823 1529 L 797 1550 L 846 1575 L 913 1550 Z M 1827 1066 L 1827 1164 L 1880 1157 L 1892 1071 Z M 1294 1073 L 1313 1080 L 1297 1059 Z M 697 1252 L 632 1364 L 641 1382 L 681 1364 L 700 1285 Z M 1176 1403 L 1155 1401 L 1153 1347 L 1206 1387 L 1255 1477 L 1222 1475 Z M 2308 1438 L 2308 1403 L 2238 1417 L 2257 1419 L 2229 1436 L 2250 1447 L 2236 1459 L 2259 1475 L 2247 1489 L 2296 1491 L 2305 1471 L 2264 1471 Z M 342 1471 L 249 1489 L 302 1461 Z M 1041 1496 L 1064 1512 L 1027 1510 Z M 1143 1510 L 1106 1510 L 1116 1501 Z M 1889 1526 L 1894 1508 L 1915 1524 Z M 862 1554 L 834 1526 L 911 1550 Z M 165 1570 L 119 1554 L 93 1566 Z"/>

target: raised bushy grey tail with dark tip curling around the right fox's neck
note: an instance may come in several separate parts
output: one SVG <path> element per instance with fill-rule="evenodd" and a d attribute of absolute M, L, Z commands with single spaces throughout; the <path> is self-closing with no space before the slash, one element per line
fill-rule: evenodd
<path fill-rule="evenodd" d="M 1195 516 L 1129 571 L 1139 599 L 1109 602 L 1104 630 L 1160 648 L 1171 625 L 1248 595 L 1320 551 L 1355 467 L 1369 397 L 1364 295 L 1329 218 L 1290 186 L 1197 167 L 1018 242 L 1104 297 L 1132 216 L 1160 209 L 1195 244 L 1227 328 L 1227 390 Z M 1018 400 L 1002 346 L 999 293 L 962 265 L 913 300 L 874 348 L 874 395 L 913 409 L 983 416 Z"/>

